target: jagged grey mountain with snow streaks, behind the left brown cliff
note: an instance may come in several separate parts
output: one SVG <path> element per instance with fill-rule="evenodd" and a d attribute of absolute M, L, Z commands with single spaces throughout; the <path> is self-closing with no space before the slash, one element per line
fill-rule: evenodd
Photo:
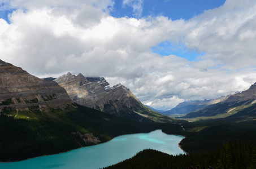
<path fill-rule="evenodd" d="M 84 77 L 81 73 L 67 73 L 54 81 L 65 88 L 77 104 L 135 121 L 173 121 L 147 108 L 121 83 L 110 87 L 103 77 Z"/>

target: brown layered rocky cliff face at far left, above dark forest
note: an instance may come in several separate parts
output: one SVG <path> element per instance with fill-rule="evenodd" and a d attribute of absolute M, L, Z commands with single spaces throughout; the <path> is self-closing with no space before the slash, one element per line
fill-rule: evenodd
<path fill-rule="evenodd" d="M 0 113 L 6 110 L 65 108 L 73 102 L 64 88 L 0 60 Z"/>

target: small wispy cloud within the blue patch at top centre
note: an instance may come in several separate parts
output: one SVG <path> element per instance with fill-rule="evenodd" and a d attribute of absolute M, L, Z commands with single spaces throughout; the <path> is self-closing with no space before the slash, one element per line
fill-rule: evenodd
<path fill-rule="evenodd" d="M 133 15 L 140 18 L 143 12 L 143 1 L 142 0 L 123 0 L 124 6 L 129 6 L 133 8 Z"/>

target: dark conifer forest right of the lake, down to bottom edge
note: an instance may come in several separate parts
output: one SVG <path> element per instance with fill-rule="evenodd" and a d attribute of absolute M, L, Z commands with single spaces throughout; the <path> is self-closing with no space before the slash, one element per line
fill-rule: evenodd
<path fill-rule="evenodd" d="M 180 143 L 186 154 L 169 155 L 143 150 L 134 157 L 105 168 L 256 168 L 255 123 L 186 123 L 185 131 L 163 129 L 167 134 L 185 135 Z"/>

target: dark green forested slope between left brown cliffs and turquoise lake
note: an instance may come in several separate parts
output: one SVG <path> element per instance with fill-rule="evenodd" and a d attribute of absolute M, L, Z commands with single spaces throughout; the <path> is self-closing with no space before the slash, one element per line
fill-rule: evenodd
<path fill-rule="evenodd" d="M 77 107 L 77 108 L 76 108 Z M 5 110 L 0 115 L 0 161 L 20 161 L 103 143 L 115 136 L 150 132 L 175 124 L 135 122 L 80 105 L 42 113 Z"/>

